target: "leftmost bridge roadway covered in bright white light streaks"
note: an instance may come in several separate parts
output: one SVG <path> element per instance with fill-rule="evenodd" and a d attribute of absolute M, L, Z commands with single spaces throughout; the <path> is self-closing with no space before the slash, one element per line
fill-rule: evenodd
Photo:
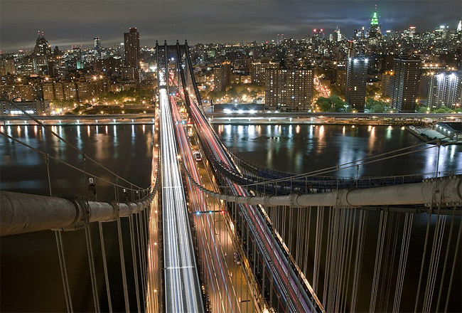
<path fill-rule="evenodd" d="M 166 88 L 160 89 L 159 95 L 165 310 L 166 312 L 204 312 Z"/>

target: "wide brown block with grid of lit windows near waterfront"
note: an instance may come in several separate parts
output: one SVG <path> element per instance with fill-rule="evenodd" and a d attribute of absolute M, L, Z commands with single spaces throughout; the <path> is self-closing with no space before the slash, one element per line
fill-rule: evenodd
<path fill-rule="evenodd" d="M 313 98 L 312 69 L 269 68 L 265 74 L 265 104 L 287 112 L 307 112 Z"/>

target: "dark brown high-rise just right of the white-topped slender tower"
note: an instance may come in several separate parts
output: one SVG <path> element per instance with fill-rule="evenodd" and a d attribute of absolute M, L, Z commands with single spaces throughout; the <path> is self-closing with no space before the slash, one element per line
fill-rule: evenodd
<path fill-rule="evenodd" d="M 420 59 L 401 57 L 394 59 L 392 78 L 392 107 L 397 112 L 414 112 L 419 92 Z"/>

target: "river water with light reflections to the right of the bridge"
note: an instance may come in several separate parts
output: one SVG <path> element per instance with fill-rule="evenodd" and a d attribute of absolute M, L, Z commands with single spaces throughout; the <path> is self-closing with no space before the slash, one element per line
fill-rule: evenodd
<path fill-rule="evenodd" d="M 372 157 L 421 144 L 405 129 L 391 126 L 215 125 L 223 143 L 245 159 L 281 171 L 303 173 Z M 420 148 L 429 147 L 423 145 Z M 431 148 L 394 159 L 359 166 L 359 176 L 434 173 L 438 149 Z M 462 171 L 462 146 L 441 147 L 439 171 Z M 340 176 L 355 177 L 357 169 L 343 169 Z M 326 175 L 336 175 L 329 173 Z"/>

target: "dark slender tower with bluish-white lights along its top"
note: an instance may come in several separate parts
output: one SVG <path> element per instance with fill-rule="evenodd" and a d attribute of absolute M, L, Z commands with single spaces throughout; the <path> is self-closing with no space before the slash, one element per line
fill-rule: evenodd
<path fill-rule="evenodd" d="M 356 112 L 364 112 L 368 62 L 364 55 L 348 58 L 345 101 Z"/>

